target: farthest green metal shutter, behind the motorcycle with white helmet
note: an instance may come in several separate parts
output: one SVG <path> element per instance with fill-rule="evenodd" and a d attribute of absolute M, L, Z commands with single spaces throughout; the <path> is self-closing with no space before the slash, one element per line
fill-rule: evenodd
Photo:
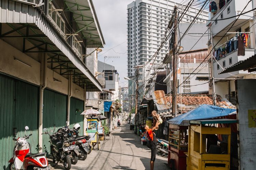
<path fill-rule="evenodd" d="M 80 115 L 84 111 L 84 102 L 82 100 L 71 97 L 70 98 L 70 128 L 73 128 L 74 124 L 79 123 L 81 128 L 79 135 L 83 135 L 83 115 Z"/>

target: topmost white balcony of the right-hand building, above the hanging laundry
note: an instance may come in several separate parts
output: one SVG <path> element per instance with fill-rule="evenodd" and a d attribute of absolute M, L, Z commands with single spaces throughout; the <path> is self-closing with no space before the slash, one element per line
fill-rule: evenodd
<path fill-rule="evenodd" d="M 215 0 L 217 7 L 218 7 L 218 0 Z M 221 10 L 219 10 L 219 8 L 217 8 L 216 14 L 213 15 L 213 13 L 211 13 L 211 25 L 212 25 L 212 35 L 213 36 L 222 36 L 224 35 L 228 28 L 234 23 L 234 21 L 236 21 L 237 17 L 233 17 L 230 19 L 225 19 L 225 18 L 229 18 L 232 16 L 236 16 L 241 14 L 241 12 L 243 11 L 245 5 L 247 3 L 243 0 L 231 0 L 229 2 L 227 2 L 226 5 L 224 5 Z M 250 11 L 252 10 L 252 2 L 250 2 L 247 7 L 245 8 L 244 12 L 246 11 Z M 243 12 L 243 13 L 244 13 Z M 239 19 L 236 21 L 236 23 L 234 24 L 232 31 L 230 30 L 229 32 L 237 32 L 236 30 L 241 28 L 244 24 L 244 22 L 246 22 L 246 20 L 252 20 L 253 18 L 253 13 L 247 13 L 245 15 L 241 15 L 239 17 Z M 224 19 L 224 20 L 217 20 L 217 19 Z"/>

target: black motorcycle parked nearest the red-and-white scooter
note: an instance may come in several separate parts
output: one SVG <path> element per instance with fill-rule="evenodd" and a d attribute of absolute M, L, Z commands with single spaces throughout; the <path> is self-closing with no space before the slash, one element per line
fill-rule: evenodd
<path fill-rule="evenodd" d="M 70 142 L 67 139 L 67 132 L 65 132 L 65 130 L 63 131 L 62 128 L 58 129 L 58 131 L 52 135 L 50 135 L 47 131 L 42 134 L 49 135 L 49 142 L 51 143 L 51 154 L 53 157 L 53 163 L 55 164 L 54 166 L 56 166 L 58 162 L 62 162 L 64 168 L 69 170 L 71 168 L 71 157 L 72 159 L 76 159 L 76 156 L 72 151 L 79 149 L 79 147 L 76 145 L 70 145 Z"/>

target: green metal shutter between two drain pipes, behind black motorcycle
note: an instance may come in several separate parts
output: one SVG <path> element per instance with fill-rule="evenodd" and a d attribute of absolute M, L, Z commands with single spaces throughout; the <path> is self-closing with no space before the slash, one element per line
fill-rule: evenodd
<path fill-rule="evenodd" d="M 55 132 L 66 125 L 67 96 L 49 89 L 44 89 L 43 128 Z M 51 153 L 49 135 L 43 135 L 43 152 Z"/>

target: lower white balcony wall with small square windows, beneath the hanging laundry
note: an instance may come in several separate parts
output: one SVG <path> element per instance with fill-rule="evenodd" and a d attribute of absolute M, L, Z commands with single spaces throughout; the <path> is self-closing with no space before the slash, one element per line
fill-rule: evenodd
<path fill-rule="evenodd" d="M 213 71 L 214 71 L 214 78 L 236 78 L 237 76 L 243 77 L 248 73 L 248 71 L 234 71 L 230 73 L 218 74 L 219 72 L 223 71 L 224 69 L 234 65 L 239 61 L 243 61 L 252 55 L 254 55 L 255 49 L 245 49 L 245 56 L 238 56 L 238 50 L 234 50 L 226 55 L 226 57 L 222 57 L 217 62 L 214 60 L 213 62 Z"/>

